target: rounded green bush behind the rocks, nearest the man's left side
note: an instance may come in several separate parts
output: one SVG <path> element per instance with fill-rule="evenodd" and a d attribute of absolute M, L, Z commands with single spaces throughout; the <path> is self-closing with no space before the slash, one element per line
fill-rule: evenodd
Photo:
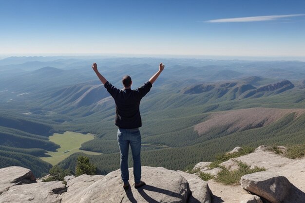
<path fill-rule="evenodd" d="M 80 176 L 82 174 L 95 175 L 96 166 L 89 163 L 89 157 L 79 156 L 77 158 L 77 164 L 76 164 L 75 171 L 76 171 L 76 176 Z"/>

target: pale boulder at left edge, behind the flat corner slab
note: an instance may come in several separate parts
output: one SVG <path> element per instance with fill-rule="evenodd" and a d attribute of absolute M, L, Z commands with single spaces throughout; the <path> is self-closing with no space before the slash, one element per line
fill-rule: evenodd
<path fill-rule="evenodd" d="M 7 191 L 11 186 L 36 182 L 32 171 L 19 166 L 0 168 L 0 194 Z"/>

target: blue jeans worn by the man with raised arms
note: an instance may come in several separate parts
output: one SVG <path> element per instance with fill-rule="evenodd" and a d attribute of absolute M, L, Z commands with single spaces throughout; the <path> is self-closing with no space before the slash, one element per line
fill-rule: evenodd
<path fill-rule="evenodd" d="M 128 150 L 129 145 L 133 153 L 133 176 L 134 182 L 139 183 L 141 181 L 141 133 L 137 129 L 118 129 L 117 130 L 117 142 L 121 152 L 120 168 L 121 177 L 124 183 L 129 181 L 128 172 Z"/>

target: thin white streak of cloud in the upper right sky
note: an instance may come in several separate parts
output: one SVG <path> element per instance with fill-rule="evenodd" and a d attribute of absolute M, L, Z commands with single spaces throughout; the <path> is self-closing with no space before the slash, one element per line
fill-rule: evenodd
<path fill-rule="evenodd" d="M 255 22 L 255 21 L 268 21 L 277 20 L 280 18 L 298 17 L 305 16 L 305 14 L 292 14 L 292 15 L 279 15 L 279 16 L 253 16 L 253 17 L 243 17 L 243 18 L 222 18 L 207 20 L 204 22 Z"/>

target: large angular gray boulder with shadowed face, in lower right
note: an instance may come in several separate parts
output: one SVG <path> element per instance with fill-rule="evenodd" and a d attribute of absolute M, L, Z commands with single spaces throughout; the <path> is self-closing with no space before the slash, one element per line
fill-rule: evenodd
<path fill-rule="evenodd" d="M 271 203 L 281 203 L 292 185 L 286 177 L 266 171 L 244 175 L 240 183 L 245 190 Z"/>

